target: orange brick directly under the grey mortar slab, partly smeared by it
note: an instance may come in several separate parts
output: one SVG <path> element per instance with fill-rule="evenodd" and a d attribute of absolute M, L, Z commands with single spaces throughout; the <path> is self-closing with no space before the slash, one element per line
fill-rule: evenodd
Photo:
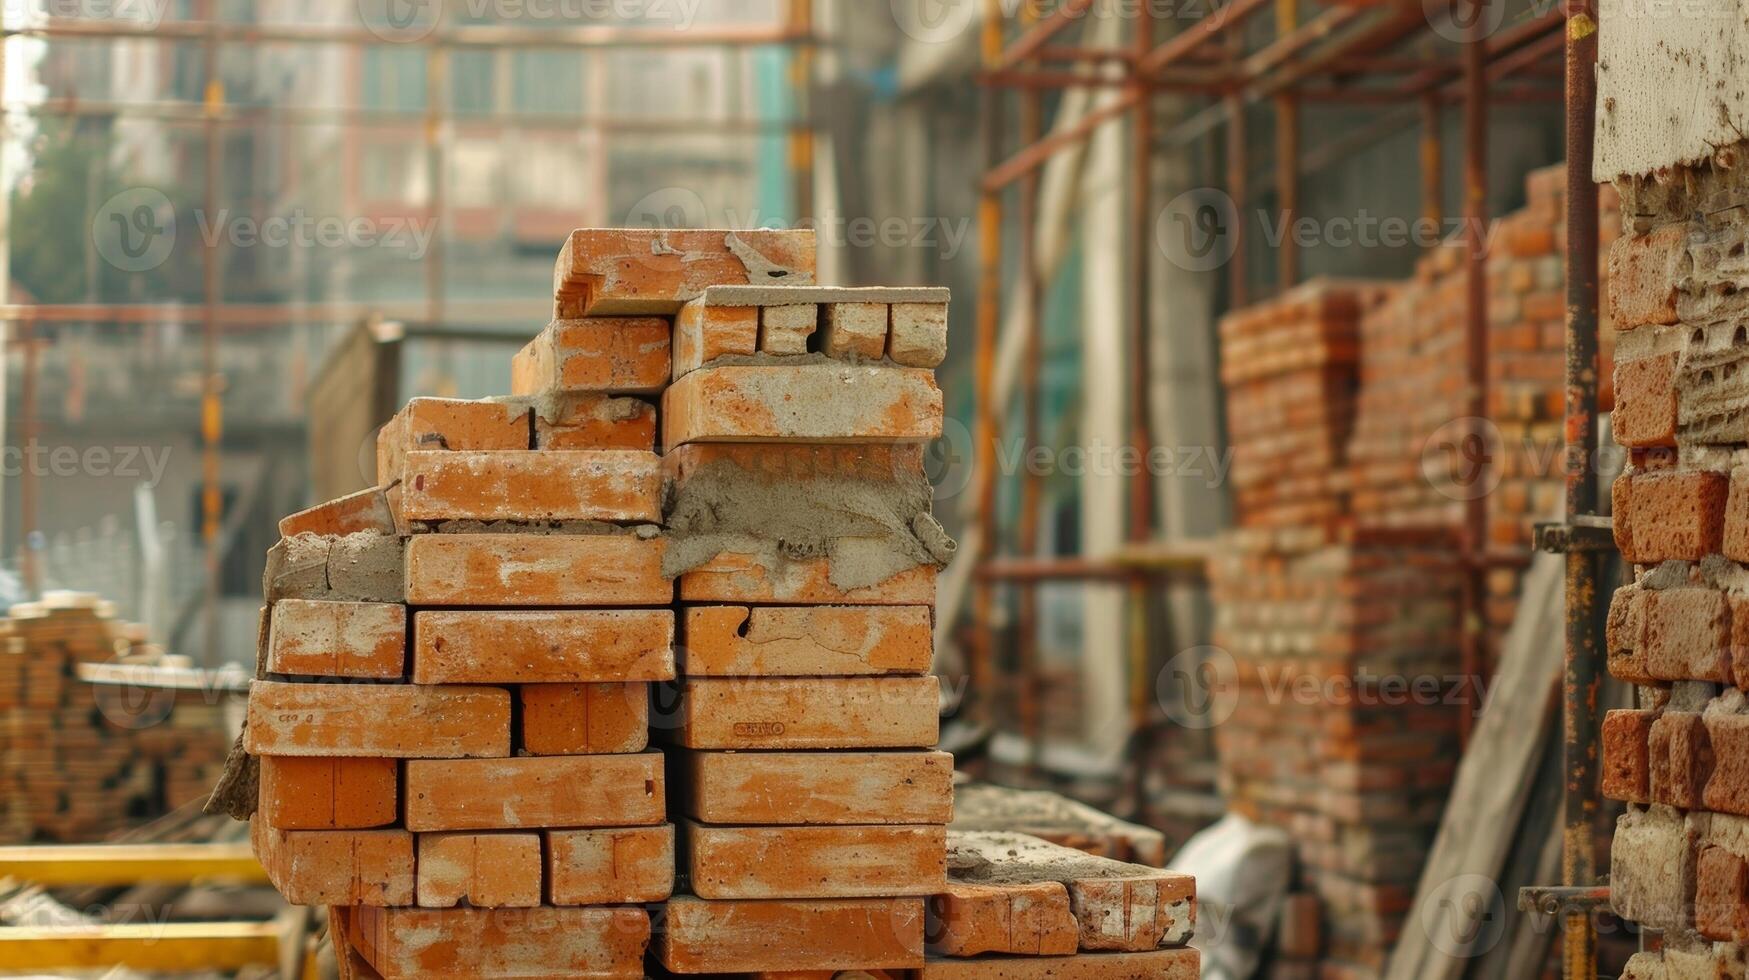
<path fill-rule="evenodd" d="M 777 562 L 722 551 L 680 574 L 684 602 L 794 602 L 799 606 L 934 606 L 936 567 L 916 565 L 859 588 L 833 584 L 827 558 Z"/>

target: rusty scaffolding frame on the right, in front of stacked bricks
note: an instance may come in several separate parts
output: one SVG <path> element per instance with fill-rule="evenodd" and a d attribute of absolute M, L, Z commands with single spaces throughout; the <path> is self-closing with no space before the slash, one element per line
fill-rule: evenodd
<path fill-rule="evenodd" d="M 1147 266 L 1139 245 L 1149 238 L 1151 175 L 1149 161 L 1160 147 L 1184 145 L 1210 136 L 1224 126 L 1226 177 L 1223 191 L 1244 214 L 1268 184 L 1279 196 L 1282 217 L 1293 220 L 1298 186 L 1305 173 L 1341 159 L 1359 145 L 1383 135 L 1420 126 L 1422 214 L 1441 219 L 1441 116 L 1455 105 L 1462 114 L 1462 217 L 1464 234 L 1464 364 L 1466 404 L 1473 420 L 1469 439 L 1485 444 L 1483 416 L 1488 404 L 1488 296 L 1485 270 L 1487 130 L 1490 103 L 1564 103 L 1567 119 L 1567 368 L 1565 368 L 1565 438 L 1567 438 L 1567 525 L 1539 534 L 1539 546 L 1567 555 L 1567 651 L 1565 651 L 1565 836 L 1564 884 L 1593 892 L 1592 824 L 1597 814 L 1597 686 L 1599 623 L 1597 584 L 1600 551 L 1611 548 L 1607 518 L 1597 518 L 1597 485 L 1590 460 L 1597 443 L 1597 214 L 1599 201 L 1590 178 L 1592 124 L 1595 108 L 1597 24 L 1590 0 L 1567 0 L 1560 9 L 1532 16 L 1490 32 L 1485 14 L 1488 0 L 1453 0 L 1452 24 L 1462 28 L 1455 60 L 1427 60 L 1397 51 L 1411 38 L 1432 30 L 1422 4 L 1331 5 L 1305 16 L 1298 0 L 1230 0 L 1214 5 L 1196 21 L 1182 23 L 1177 33 L 1156 38 L 1167 24 L 1149 4 L 1135 5 L 1135 24 L 1128 47 L 1074 47 L 1056 44 L 1058 35 L 1081 21 L 1095 0 L 1063 0 L 1049 16 L 1023 16 L 1016 30 L 1002 14 L 1002 4 L 986 0 L 983 7 L 983 86 L 985 86 L 985 175 L 979 200 L 981 243 L 976 394 L 978 411 L 974 446 L 976 469 L 976 572 L 972 576 L 972 690 L 983 696 L 972 705 L 983 724 L 1018 721 L 1028 744 L 1037 738 L 1039 676 L 1034 651 L 1032 592 L 1046 581 L 1119 581 L 1126 584 L 1126 632 L 1132 710 L 1130 719 L 1137 758 L 1130 774 L 1135 800 L 1139 780 L 1149 765 L 1156 721 L 1147 709 L 1149 637 L 1146 604 L 1149 583 L 1163 576 L 1196 578 L 1207 544 L 1182 537 L 1160 537 L 1153 520 L 1153 494 L 1146 467 L 1128 485 L 1126 537 L 1132 542 L 1119 555 L 1105 558 L 1041 560 L 1035 502 L 1039 478 L 1023 472 L 1021 516 L 1013 550 L 999 544 L 997 458 L 999 418 L 1006 406 L 995 404 L 995 346 L 1002 317 L 1002 226 L 1018 220 L 1021 248 L 1030 248 L 1034 233 L 1039 168 L 1055 154 L 1088 140 L 1098 128 L 1128 121 L 1133 161 L 1130 163 L 1132 266 L 1128 276 L 1130 318 L 1126 324 L 1128 378 L 1123 382 L 1132 446 L 1149 444 L 1147 432 Z M 1499 0 L 1495 0 L 1499 2 Z M 1030 5 L 1025 5 L 1030 10 Z M 1261 44 L 1247 44 L 1247 23 L 1273 7 L 1275 30 Z M 1466 16 L 1467 14 L 1467 16 Z M 1450 32 L 1446 32 L 1450 33 Z M 1551 84 L 1564 80 L 1564 88 Z M 1048 136 L 1041 135 L 1041 93 L 1069 88 L 1116 89 L 1098 108 L 1076 124 Z M 1016 147 L 1002 133 L 1002 93 L 1020 96 Z M 1203 96 L 1207 105 L 1163 133 L 1156 133 L 1151 100 L 1156 94 Z M 1245 110 L 1268 103 L 1275 117 L 1273 173 L 1258 175 L 1247 159 Z M 1352 133 L 1338 135 L 1320 147 L 1303 147 L 1300 107 L 1303 103 L 1376 105 L 1383 112 Z M 1018 206 L 1009 208 L 1004 192 L 1018 187 Z M 1590 189 L 1590 192 L 1581 192 Z M 1231 308 L 1249 303 L 1251 275 L 1245 268 L 1242 229 L 1235 226 L 1233 259 L 1226 268 L 1226 298 Z M 1020 256 L 1023 322 L 1032 324 L 1025 338 L 1021 418 L 1027 438 L 1037 436 L 1037 327 L 1041 289 L 1034 282 L 1030 254 Z M 1286 290 L 1300 276 L 1300 256 L 1293 236 L 1284 236 L 1277 254 L 1277 287 Z M 1480 458 L 1487 460 L 1481 453 Z M 1480 474 L 1485 480 L 1487 474 Z M 1013 555 L 1020 555 L 1018 558 Z M 1480 681 L 1483 658 L 1485 597 L 1483 576 L 1490 567 L 1522 565 L 1527 555 L 1490 551 L 1487 541 L 1485 495 L 1469 495 L 1462 534 L 1457 541 L 1464 567 L 1462 592 L 1462 674 Z M 997 639 L 993 630 L 995 590 L 1020 588 L 1016 614 L 1016 651 L 1021 677 L 1016 691 L 1018 719 L 997 719 L 993 665 Z M 1139 682 L 1140 681 L 1140 682 Z M 1476 686 L 1474 690 L 1481 690 Z M 1464 737 L 1467 740 L 1467 721 Z M 1595 896 L 1593 900 L 1595 901 Z M 1565 975 L 1595 975 L 1595 928 L 1590 906 L 1569 910 L 1565 924 Z"/>

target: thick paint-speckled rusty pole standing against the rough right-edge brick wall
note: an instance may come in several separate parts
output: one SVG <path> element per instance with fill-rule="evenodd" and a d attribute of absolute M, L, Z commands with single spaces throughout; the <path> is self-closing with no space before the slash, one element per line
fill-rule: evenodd
<path fill-rule="evenodd" d="M 1597 513 L 1597 19 L 1590 0 L 1567 12 L 1567 523 Z M 1567 644 L 1562 670 L 1562 763 L 1567 775 L 1560 880 L 1597 884 L 1597 551 L 1567 551 Z M 1562 970 L 1597 976 L 1597 931 L 1586 910 L 1564 919 Z"/>

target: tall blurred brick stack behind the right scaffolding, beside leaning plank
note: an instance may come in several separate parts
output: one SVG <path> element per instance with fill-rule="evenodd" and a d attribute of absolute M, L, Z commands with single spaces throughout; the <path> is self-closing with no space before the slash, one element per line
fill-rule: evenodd
<path fill-rule="evenodd" d="M 1473 480 L 1476 453 L 1462 443 L 1459 247 L 1434 248 L 1411 280 L 1389 289 L 1308 284 L 1223 324 L 1240 527 L 1212 567 L 1216 644 L 1231 654 L 1237 682 L 1216 746 L 1233 808 L 1287 830 L 1300 856 L 1310 900 L 1296 896 L 1284 915 L 1282 976 L 1375 976 L 1403 928 L 1455 774 L 1460 714 L 1474 707 L 1460 668 L 1464 497 L 1487 494 L 1495 555 L 1527 560 L 1530 525 L 1555 516 L 1560 168 L 1532 173 L 1527 196 L 1494 226 L 1488 252 L 1488 422 L 1499 443 L 1483 452 L 1497 483 Z M 1606 214 L 1613 206 L 1606 194 Z M 1343 290 L 1352 299 L 1331 299 Z M 1359 312 L 1352 332 L 1303 322 L 1308 308 L 1343 304 Z M 1354 338 L 1347 360 L 1300 354 L 1294 362 L 1324 364 L 1326 376 L 1312 383 L 1284 373 L 1273 397 L 1258 390 L 1270 374 L 1240 364 L 1280 360 L 1277 346 L 1291 338 L 1331 336 Z M 1343 392 L 1333 397 L 1338 411 L 1310 401 L 1324 390 Z M 1272 432 L 1259 415 L 1300 430 Z M 1272 450 L 1329 443 L 1336 453 L 1315 450 L 1331 460 L 1319 478 L 1300 476 Z M 1256 476 L 1245 474 L 1247 458 Z M 1305 499 L 1249 494 L 1247 481 L 1265 481 L 1272 467 L 1294 472 Z M 1488 572 L 1490 646 L 1516 611 L 1520 570 L 1504 562 Z M 1383 686 L 1403 681 L 1422 693 Z"/>

